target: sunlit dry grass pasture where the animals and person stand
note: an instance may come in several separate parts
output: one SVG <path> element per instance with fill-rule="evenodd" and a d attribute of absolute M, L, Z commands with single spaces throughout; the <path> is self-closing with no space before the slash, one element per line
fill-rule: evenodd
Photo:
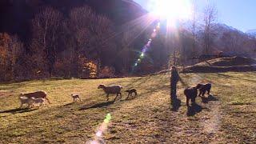
<path fill-rule="evenodd" d="M 100 80 L 47 80 L 0 85 L 0 143 L 84 143 L 94 138 L 106 114 L 110 126 L 107 143 L 152 142 L 255 142 L 256 73 L 181 74 L 186 86 L 212 82 L 209 102 L 186 107 L 178 85 L 182 106 L 170 109 L 170 84 L 166 74 L 143 78 Z M 106 102 L 98 84 L 120 84 L 124 90 L 137 88 L 138 97 Z M 51 105 L 19 110 L 18 94 L 46 90 Z M 83 102 L 72 104 L 70 94 Z"/>

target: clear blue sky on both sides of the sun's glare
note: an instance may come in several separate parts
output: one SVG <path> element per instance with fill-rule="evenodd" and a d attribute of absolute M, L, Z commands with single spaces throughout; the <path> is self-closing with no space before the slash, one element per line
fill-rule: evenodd
<path fill-rule="evenodd" d="M 149 0 L 134 0 L 145 9 Z M 195 0 L 202 11 L 208 0 Z M 218 22 L 246 32 L 256 29 L 256 0 L 209 0 L 218 9 Z"/>

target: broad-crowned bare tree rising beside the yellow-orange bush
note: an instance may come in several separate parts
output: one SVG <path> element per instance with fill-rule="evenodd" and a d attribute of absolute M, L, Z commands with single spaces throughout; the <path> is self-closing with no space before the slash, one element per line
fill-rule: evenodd
<path fill-rule="evenodd" d="M 113 23 L 105 16 L 95 14 L 90 7 L 82 6 L 71 10 L 69 29 L 74 35 L 70 39 L 76 54 L 96 61 L 99 74 L 102 58 L 115 48 Z M 105 60 L 108 59 L 111 58 Z"/>

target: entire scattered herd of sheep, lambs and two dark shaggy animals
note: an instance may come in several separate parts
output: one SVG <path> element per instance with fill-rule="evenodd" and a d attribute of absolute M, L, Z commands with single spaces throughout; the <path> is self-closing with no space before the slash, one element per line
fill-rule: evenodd
<path fill-rule="evenodd" d="M 120 97 L 122 98 L 122 94 L 121 94 L 122 86 L 118 86 L 118 85 L 115 85 L 115 86 L 99 85 L 98 89 L 102 89 L 102 90 L 105 91 L 107 101 L 109 100 L 109 94 L 117 94 L 116 98 L 120 94 Z M 210 89 L 211 89 L 211 84 L 210 83 L 198 84 L 195 87 L 187 87 L 184 90 L 184 94 L 186 95 L 186 106 L 189 106 L 190 99 L 191 99 L 191 102 L 194 103 L 195 98 L 197 96 L 201 96 L 201 94 L 202 94 L 202 97 L 203 97 L 206 92 L 208 92 L 208 94 L 210 94 Z M 198 90 L 200 91 L 199 94 L 198 94 Z M 135 90 L 135 89 L 126 90 L 126 92 L 128 93 L 127 98 L 129 98 L 129 96 L 132 95 L 132 94 L 137 96 L 137 90 Z M 71 94 L 71 97 L 73 98 L 73 102 L 77 102 L 78 100 L 82 101 L 82 99 L 79 97 L 78 94 Z M 47 98 L 46 91 L 43 91 L 43 90 L 36 91 L 36 92 L 33 92 L 33 93 L 26 93 L 26 94 L 22 93 L 22 94 L 18 95 L 18 98 L 21 102 L 20 108 L 22 108 L 25 105 L 29 108 L 31 108 L 35 105 L 45 106 L 46 101 L 48 103 L 50 103 L 50 100 Z M 114 100 L 116 98 L 114 98 Z"/>

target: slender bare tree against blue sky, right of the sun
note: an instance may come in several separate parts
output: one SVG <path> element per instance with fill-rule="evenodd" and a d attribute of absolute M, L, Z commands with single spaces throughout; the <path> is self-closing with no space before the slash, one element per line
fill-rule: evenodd
<path fill-rule="evenodd" d="M 204 30 L 203 30 L 203 40 L 205 46 L 205 53 L 210 53 L 210 48 L 213 44 L 213 37 L 214 37 L 214 24 L 217 21 L 217 9 L 215 6 L 206 6 L 204 10 Z"/>

